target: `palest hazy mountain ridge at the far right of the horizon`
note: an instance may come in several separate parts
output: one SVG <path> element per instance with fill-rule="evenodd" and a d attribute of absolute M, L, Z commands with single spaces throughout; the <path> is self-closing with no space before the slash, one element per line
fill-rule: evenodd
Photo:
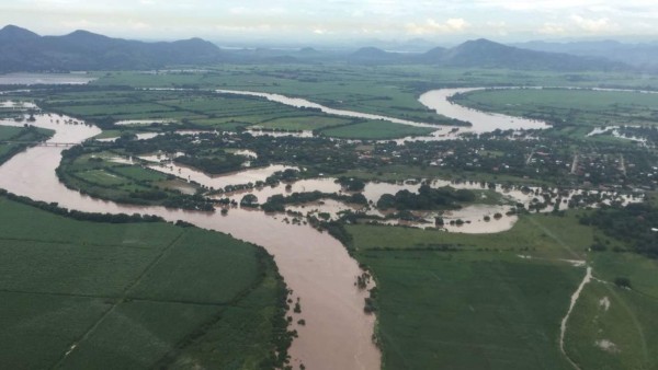
<path fill-rule="evenodd" d="M 643 69 L 658 70 L 658 43 L 623 44 L 615 41 L 547 43 L 529 42 L 513 46 L 531 50 L 601 57 Z"/>

